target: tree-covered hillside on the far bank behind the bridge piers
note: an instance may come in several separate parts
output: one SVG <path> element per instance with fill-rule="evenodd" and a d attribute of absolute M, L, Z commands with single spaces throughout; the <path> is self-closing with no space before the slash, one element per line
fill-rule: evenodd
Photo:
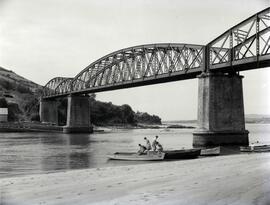
<path fill-rule="evenodd" d="M 0 107 L 8 105 L 9 121 L 39 120 L 39 95 L 42 86 L 0 67 Z M 91 95 L 91 121 L 95 125 L 161 124 L 161 119 L 145 112 L 135 113 L 129 105 L 100 102 Z M 59 123 L 65 125 L 66 100 L 60 100 Z"/>

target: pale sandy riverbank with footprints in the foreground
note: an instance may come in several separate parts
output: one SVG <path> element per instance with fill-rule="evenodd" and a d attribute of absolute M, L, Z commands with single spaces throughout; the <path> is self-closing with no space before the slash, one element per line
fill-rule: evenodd
<path fill-rule="evenodd" d="M 0 179 L 1 205 L 270 204 L 270 153 Z"/>

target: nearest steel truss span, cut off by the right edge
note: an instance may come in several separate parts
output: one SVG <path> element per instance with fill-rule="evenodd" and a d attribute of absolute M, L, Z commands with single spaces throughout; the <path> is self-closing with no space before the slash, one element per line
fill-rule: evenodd
<path fill-rule="evenodd" d="M 209 69 L 269 66 L 270 8 L 237 24 L 207 45 Z"/>

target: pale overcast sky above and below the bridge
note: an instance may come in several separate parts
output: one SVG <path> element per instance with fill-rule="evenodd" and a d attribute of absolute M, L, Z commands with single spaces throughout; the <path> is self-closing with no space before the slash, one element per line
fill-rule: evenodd
<path fill-rule="evenodd" d="M 38 84 L 74 77 L 113 51 L 207 44 L 270 0 L 0 0 L 0 66 Z M 244 76 L 246 114 L 270 114 L 270 69 Z M 197 117 L 198 79 L 97 93 L 162 120 Z"/>

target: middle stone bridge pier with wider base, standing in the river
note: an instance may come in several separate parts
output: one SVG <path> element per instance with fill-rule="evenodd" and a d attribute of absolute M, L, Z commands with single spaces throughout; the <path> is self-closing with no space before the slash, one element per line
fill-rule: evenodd
<path fill-rule="evenodd" d="M 89 96 L 68 96 L 67 124 L 64 133 L 92 133 Z"/>

